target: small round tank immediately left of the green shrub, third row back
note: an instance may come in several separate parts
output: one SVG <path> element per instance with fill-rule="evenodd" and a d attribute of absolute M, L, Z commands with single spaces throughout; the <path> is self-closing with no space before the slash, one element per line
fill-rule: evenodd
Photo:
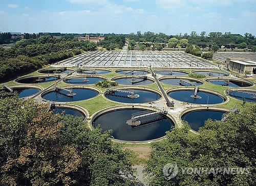
<path fill-rule="evenodd" d="M 95 84 L 98 81 L 105 80 L 102 77 L 91 77 L 91 76 L 74 76 L 63 79 L 66 83 L 71 84 Z"/>

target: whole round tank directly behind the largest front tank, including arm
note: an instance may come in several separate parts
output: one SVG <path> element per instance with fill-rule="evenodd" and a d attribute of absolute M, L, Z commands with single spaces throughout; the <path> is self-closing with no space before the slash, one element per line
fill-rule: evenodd
<path fill-rule="evenodd" d="M 161 98 L 161 95 L 155 90 L 137 88 L 106 90 L 104 96 L 112 101 L 121 103 L 148 103 Z"/>

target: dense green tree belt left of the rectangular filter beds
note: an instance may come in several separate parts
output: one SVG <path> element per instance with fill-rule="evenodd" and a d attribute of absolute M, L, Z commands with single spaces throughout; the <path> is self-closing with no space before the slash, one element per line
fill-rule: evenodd
<path fill-rule="evenodd" d="M 96 48 L 94 42 L 78 41 L 73 35 L 59 39 L 50 35 L 22 39 L 12 48 L 0 48 L 0 81 Z"/>

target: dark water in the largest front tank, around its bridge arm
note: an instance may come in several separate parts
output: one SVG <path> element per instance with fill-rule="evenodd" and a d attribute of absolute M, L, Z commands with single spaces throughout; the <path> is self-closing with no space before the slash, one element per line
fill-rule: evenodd
<path fill-rule="evenodd" d="M 143 111 L 142 109 L 117 110 L 99 115 L 94 121 L 93 126 L 100 127 L 103 131 L 113 130 L 113 137 L 125 141 L 146 141 L 159 138 L 165 135 L 174 125 L 173 121 L 165 118 L 163 120 L 144 124 L 137 127 L 131 127 L 126 124 L 131 119 L 132 113 Z M 151 115 L 139 119 L 141 122 L 155 119 L 157 115 Z"/>

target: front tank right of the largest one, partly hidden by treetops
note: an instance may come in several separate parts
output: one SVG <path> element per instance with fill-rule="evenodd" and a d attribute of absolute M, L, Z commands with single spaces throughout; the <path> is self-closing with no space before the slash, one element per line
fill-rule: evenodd
<path fill-rule="evenodd" d="M 224 108 L 195 108 L 188 109 L 181 114 L 181 119 L 188 122 L 192 130 L 198 131 L 200 127 L 204 126 L 205 121 L 208 119 L 221 121 L 222 115 L 228 109 Z"/>

